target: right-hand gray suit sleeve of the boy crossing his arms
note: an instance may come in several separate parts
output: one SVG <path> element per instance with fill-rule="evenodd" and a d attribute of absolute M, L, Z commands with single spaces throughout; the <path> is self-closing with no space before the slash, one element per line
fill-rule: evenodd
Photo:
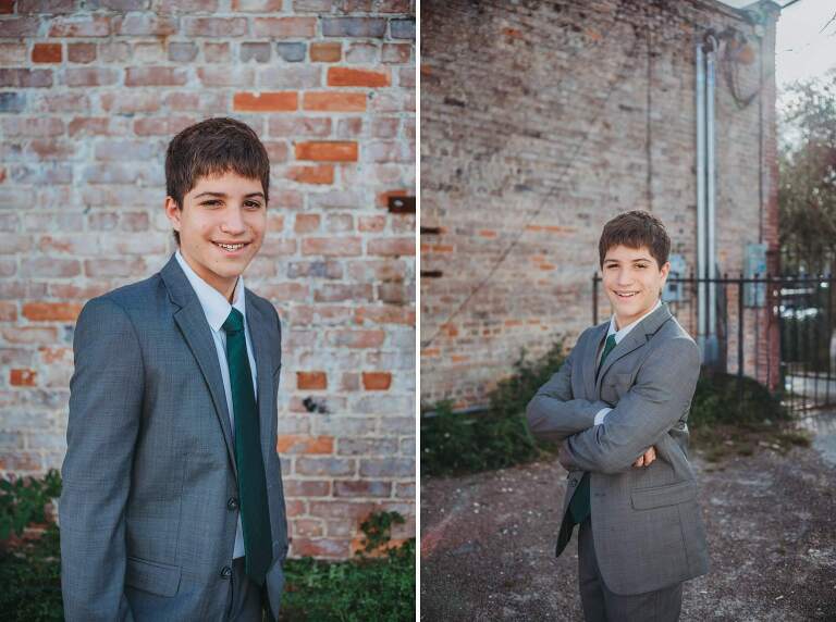
<path fill-rule="evenodd" d="M 564 467 L 599 473 L 630 469 L 688 411 L 699 375 L 697 344 L 686 337 L 669 339 L 650 354 L 636 384 L 601 425 L 563 443 Z"/>

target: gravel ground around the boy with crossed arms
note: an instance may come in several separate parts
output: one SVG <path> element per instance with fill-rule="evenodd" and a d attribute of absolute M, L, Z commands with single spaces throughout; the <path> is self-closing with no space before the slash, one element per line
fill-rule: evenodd
<path fill-rule="evenodd" d="M 836 621 L 836 465 L 817 438 L 693 457 L 712 570 L 685 584 L 683 622 Z M 577 531 L 554 557 L 565 486 L 556 461 L 423 480 L 421 620 L 582 620 Z"/>

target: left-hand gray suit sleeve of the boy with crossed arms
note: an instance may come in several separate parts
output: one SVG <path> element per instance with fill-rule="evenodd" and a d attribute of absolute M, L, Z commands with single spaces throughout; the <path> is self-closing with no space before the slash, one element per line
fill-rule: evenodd
<path fill-rule="evenodd" d="M 576 346 L 557 373 L 540 387 L 526 407 L 528 426 L 541 438 L 561 441 L 590 428 L 594 425 L 595 414 L 610 406 L 603 401 L 573 398 L 571 368 L 576 364 L 577 351 Z"/>

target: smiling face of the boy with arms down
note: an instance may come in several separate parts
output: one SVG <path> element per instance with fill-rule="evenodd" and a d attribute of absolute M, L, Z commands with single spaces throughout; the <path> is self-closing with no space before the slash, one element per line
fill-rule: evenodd
<path fill-rule="evenodd" d="M 188 265 L 229 300 L 263 241 L 261 182 L 233 172 L 201 177 L 183 197 L 182 210 L 167 197 L 165 214 L 180 232 L 180 252 Z"/>

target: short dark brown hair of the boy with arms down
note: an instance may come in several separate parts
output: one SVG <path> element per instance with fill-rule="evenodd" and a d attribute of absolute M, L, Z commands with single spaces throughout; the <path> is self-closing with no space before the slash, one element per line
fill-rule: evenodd
<path fill-rule="evenodd" d="M 246 123 L 229 117 L 207 119 L 177 134 L 165 152 L 165 192 L 183 209 L 183 197 L 200 177 L 232 171 L 259 179 L 265 202 L 270 192 L 270 159 L 267 149 Z M 180 234 L 174 232 L 180 246 Z"/>

